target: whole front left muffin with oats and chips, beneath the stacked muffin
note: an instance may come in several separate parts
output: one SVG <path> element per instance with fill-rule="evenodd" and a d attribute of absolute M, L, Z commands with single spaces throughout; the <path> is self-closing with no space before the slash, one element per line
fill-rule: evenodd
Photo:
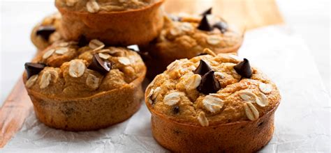
<path fill-rule="evenodd" d="M 55 42 L 25 67 L 23 80 L 36 116 L 49 127 L 108 127 L 130 118 L 143 99 L 146 67 L 140 56 L 99 40 Z"/>

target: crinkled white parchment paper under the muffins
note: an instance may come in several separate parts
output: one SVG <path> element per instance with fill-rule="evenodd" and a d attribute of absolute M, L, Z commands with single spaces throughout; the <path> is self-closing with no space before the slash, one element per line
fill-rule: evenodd
<path fill-rule="evenodd" d="M 247 32 L 239 54 L 281 91 L 274 136 L 261 152 L 330 152 L 330 97 L 302 39 L 281 26 L 257 29 Z M 142 104 L 132 118 L 107 129 L 68 132 L 46 127 L 31 110 L 1 152 L 168 152 L 153 139 L 150 116 Z"/>

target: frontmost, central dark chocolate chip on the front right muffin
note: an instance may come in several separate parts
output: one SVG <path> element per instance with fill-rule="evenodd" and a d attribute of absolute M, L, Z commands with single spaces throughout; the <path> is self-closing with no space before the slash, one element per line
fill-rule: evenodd
<path fill-rule="evenodd" d="M 216 93 L 220 89 L 221 85 L 215 78 L 214 71 L 209 71 L 203 75 L 201 83 L 197 88 L 199 92 L 202 92 L 205 95 L 208 95 L 209 93 Z"/>

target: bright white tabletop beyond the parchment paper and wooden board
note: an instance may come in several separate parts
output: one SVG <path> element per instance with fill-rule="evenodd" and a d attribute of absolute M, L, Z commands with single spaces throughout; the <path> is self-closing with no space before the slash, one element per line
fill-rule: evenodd
<path fill-rule="evenodd" d="M 302 35 L 330 90 L 330 14 L 328 0 L 277 0 L 293 33 Z M 0 105 L 36 51 L 29 35 L 33 26 L 56 9 L 52 0 L 0 0 Z M 277 43 L 277 42 L 275 42 Z"/>

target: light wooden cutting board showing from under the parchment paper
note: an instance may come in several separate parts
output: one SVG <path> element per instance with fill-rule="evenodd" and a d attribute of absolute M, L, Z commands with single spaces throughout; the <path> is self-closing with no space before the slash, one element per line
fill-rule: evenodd
<path fill-rule="evenodd" d="M 211 6 L 214 14 L 247 30 L 283 23 L 274 0 L 166 0 L 164 4 L 168 13 L 199 14 Z M 0 148 L 20 130 L 32 108 L 20 79 L 0 108 Z"/>

